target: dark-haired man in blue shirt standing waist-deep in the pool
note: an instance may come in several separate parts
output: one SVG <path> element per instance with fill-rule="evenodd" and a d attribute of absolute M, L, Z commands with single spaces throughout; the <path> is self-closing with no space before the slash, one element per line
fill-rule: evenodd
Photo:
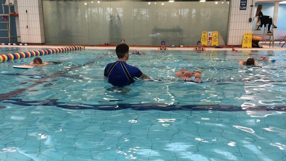
<path fill-rule="evenodd" d="M 108 83 L 113 86 L 126 86 L 134 82 L 134 78 L 150 79 L 137 67 L 128 65 L 126 61 L 129 57 L 129 47 L 126 44 L 119 44 L 115 49 L 118 60 L 109 63 L 104 69 L 103 77 L 108 77 Z"/>

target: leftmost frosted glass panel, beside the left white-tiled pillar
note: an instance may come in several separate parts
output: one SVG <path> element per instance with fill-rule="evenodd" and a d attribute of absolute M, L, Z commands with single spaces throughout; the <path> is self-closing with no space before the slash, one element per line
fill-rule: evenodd
<path fill-rule="evenodd" d="M 89 44 L 84 2 L 43 1 L 46 43 Z"/>

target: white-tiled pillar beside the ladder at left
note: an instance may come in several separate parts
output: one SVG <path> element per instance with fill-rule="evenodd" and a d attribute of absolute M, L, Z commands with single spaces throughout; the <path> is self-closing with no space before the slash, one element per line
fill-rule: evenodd
<path fill-rule="evenodd" d="M 19 13 L 17 34 L 22 43 L 45 43 L 43 9 L 41 0 L 15 0 Z M 26 13 L 27 10 L 27 13 Z M 28 28 L 27 28 L 28 26 Z M 17 21 L 16 21 L 17 27 Z"/>

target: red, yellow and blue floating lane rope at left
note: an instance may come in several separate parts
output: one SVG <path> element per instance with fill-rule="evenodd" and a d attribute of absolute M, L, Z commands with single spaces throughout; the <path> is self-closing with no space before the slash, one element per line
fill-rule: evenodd
<path fill-rule="evenodd" d="M 74 50 L 81 50 L 84 49 L 82 46 L 68 46 L 63 48 L 52 48 L 52 49 L 45 49 L 45 50 L 34 50 L 34 51 L 25 51 L 25 52 L 14 52 L 11 54 L 1 54 L 0 55 L 0 62 L 6 62 L 26 57 L 34 57 L 34 56 L 43 56 L 43 55 L 50 55 L 60 52 L 66 51 L 74 51 Z"/>

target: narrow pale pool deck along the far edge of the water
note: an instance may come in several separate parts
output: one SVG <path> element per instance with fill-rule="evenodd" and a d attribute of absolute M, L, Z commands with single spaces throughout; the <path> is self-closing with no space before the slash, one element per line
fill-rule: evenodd
<path fill-rule="evenodd" d="M 76 45 L 0 45 L 0 47 L 5 48 L 61 48 L 65 46 L 76 46 Z M 86 49 L 115 49 L 116 46 L 89 46 L 89 45 L 82 45 Z M 235 50 L 286 50 L 286 48 L 277 47 L 278 43 L 275 43 L 274 48 L 269 48 L 269 45 L 263 45 L 263 48 L 239 48 L 234 47 Z M 195 46 L 186 46 L 186 47 L 176 47 L 176 48 L 169 48 L 169 50 L 193 50 Z M 157 50 L 159 46 L 129 46 L 130 50 Z M 214 48 L 214 47 L 206 47 L 206 50 L 232 50 L 232 48 Z"/>

